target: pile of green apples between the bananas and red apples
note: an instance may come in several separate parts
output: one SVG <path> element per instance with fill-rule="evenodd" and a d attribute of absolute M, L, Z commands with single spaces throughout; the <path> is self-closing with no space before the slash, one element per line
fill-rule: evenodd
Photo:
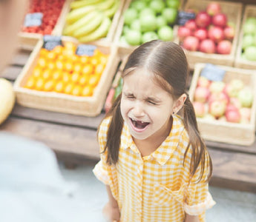
<path fill-rule="evenodd" d="M 173 29 L 179 0 L 136 0 L 131 1 L 124 13 L 122 44 L 140 45 L 146 41 L 162 39 L 173 40 Z"/>

